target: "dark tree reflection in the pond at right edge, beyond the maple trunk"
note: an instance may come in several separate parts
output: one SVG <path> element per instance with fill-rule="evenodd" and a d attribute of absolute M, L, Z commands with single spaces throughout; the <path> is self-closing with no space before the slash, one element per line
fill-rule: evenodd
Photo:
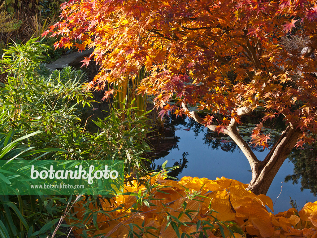
<path fill-rule="evenodd" d="M 285 177 L 285 182 L 293 181 L 297 184 L 301 181 L 301 191 L 310 189 L 314 196 L 317 195 L 317 147 L 306 149 L 293 149 L 288 160 L 294 164 L 292 175 Z"/>

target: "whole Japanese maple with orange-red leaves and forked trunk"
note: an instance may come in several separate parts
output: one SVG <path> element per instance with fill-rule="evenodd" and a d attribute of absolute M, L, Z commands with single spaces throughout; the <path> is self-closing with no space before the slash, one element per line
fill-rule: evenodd
<path fill-rule="evenodd" d="M 160 115 L 187 115 L 229 135 L 250 163 L 256 194 L 266 194 L 292 148 L 317 132 L 317 61 L 309 57 L 317 45 L 315 0 L 70 0 L 61 9 L 48 32 L 61 36 L 55 47 L 94 48 L 83 63 L 94 59 L 101 72 L 88 87 L 133 80 L 146 67 L 139 93 L 155 96 Z M 309 37 L 303 54 L 280 43 L 287 34 Z M 254 109 L 264 116 L 250 144 L 236 126 Z M 287 127 L 260 161 L 250 147 L 268 147 L 262 123 L 277 116 Z"/>

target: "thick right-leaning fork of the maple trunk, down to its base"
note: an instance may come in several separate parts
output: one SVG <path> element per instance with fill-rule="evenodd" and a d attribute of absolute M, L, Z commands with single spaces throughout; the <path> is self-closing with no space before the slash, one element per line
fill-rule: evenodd
<path fill-rule="evenodd" d="M 263 161 L 254 163 L 251 167 L 252 180 L 249 183 L 248 190 L 251 190 L 256 195 L 266 194 L 275 175 L 281 168 L 291 150 L 295 146 L 302 133 L 299 130 L 288 126 L 283 131 L 279 140 L 275 143 L 268 155 Z"/>

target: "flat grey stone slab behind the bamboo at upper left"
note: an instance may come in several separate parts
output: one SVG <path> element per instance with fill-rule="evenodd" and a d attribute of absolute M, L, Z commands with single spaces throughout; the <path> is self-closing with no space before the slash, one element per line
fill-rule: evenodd
<path fill-rule="evenodd" d="M 55 70 L 55 69 L 63 69 L 67 66 L 74 66 L 79 64 L 84 57 L 91 55 L 94 52 L 94 49 L 83 50 L 82 52 L 74 52 L 67 55 L 62 56 L 58 60 L 53 63 L 47 64 L 46 67 Z"/>

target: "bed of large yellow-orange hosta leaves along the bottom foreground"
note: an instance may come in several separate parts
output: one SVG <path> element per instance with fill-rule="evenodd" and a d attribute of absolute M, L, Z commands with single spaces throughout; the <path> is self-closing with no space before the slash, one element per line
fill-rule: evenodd
<path fill-rule="evenodd" d="M 149 184 L 152 189 L 133 181 L 125 186 L 126 194 L 101 200 L 102 209 L 92 201 L 77 202 L 77 221 L 73 217 L 67 222 L 74 227 L 78 220 L 89 224 L 75 228 L 76 237 L 85 232 L 89 237 L 177 238 L 198 237 L 203 231 L 206 237 L 317 236 L 317 202 L 307 203 L 299 213 L 290 208 L 274 215 L 266 208 L 274 211 L 268 196 L 255 195 L 233 179 L 183 177 L 177 182 L 159 174 Z M 93 210 L 97 215 L 88 216 Z"/>

